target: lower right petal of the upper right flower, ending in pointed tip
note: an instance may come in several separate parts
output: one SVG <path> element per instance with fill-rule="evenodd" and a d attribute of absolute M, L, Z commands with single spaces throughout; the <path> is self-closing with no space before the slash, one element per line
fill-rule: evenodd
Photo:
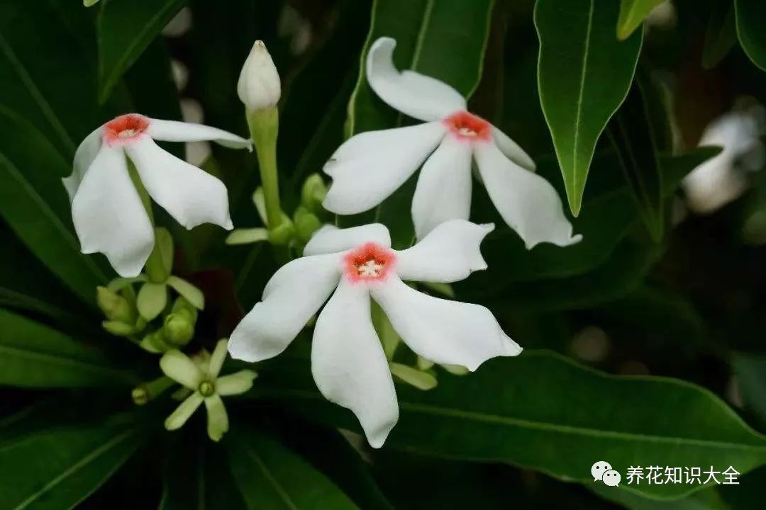
<path fill-rule="evenodd" d="M 510 161 L 493 143 L 477 144 L 474 154 L 489 198 L 527 249 L 540 242 L 580 242 L 582 236 L 572 236 L 561 198 L 547 180 Z"/>

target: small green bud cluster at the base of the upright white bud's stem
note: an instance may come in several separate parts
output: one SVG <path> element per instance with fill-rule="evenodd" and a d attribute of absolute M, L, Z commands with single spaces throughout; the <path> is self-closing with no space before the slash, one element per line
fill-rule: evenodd
<path fill-rule="evenodd" d="M 322 209 L 322 200 L 327 194 L 327 187 L 319 174 L 310 175 L 303 183 L 300 194 L 300 205 L 296 207 L 290 218 L 282 211 L 281 221 L 277 226 L 270 226 L 263 188 L 253 193 L 253 203 L 258 216 L 266 228 L 236 229 L 228 236 L 228 245 L 244 245 L 254 242 L 268 241 L 272 245 L 290 246 L 303 249 L 314 232 L 322 226 L 322 217 L 326 211 Z"/>

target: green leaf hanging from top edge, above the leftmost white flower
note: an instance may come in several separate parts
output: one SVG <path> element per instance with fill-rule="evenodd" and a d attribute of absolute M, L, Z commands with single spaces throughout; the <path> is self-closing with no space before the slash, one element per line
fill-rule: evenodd
<path fill-rule="evenodd" d="M 185 3 L 186 0 L 103 2 L 97 21 L 101 103 L 109 99 L 126 70 Z"/>

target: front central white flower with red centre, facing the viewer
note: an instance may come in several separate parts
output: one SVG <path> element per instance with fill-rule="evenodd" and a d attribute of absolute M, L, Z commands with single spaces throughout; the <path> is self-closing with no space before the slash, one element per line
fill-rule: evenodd
<path fill-rule="evenodd" d="M 229 352 L 250 362 L 277 356 L 332 294 L 314 328 L 314 380 L 322 395 L 351 409 L 369 443 L 381 447 L 399 411 L 370 297 L 404 343 L 433 362 L 475 370 L 487 359 L 521 352 L 485 307 L 430 297 L 404 284 L 459 281 L 486 269 L 479 245 L 492 229 L 453 219 L 397 251 L 379 223 L 326 226 L 306 245 L 306 256 L 273 275 L 263 300 L 231 334 Z"/>

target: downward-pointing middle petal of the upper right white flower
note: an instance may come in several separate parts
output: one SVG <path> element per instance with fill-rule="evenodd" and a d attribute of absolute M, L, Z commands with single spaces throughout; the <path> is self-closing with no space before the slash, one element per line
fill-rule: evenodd
<path fill-rule="evenodd" d="M 412 221 L 417 239 L 447 219 L 468 219 L 471 211 L 471 145 L 446 136 L 417 177 Z"/>

